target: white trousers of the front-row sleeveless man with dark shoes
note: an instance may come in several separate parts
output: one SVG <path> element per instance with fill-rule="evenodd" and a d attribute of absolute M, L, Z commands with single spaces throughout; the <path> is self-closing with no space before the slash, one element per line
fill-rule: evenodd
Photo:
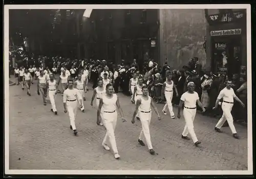
<path fill-rule="evenodd" d="M 140 132 L 139 139 L 142 140 L 142 136 L 144 134 L 148 149 L 153 149 L 153 146 L 151 143 L 151 137 L 150 137 L 151 112 L 150 113 L 139 112 L 139 113 L 140 113 L 139 115 L 140 115 L 140 121 L 142 125 L 142 130 Z"/>

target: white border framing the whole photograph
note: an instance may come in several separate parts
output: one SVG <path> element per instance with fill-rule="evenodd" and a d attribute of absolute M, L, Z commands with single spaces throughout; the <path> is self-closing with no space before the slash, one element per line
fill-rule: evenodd
<path fill-rule="evenodd" d="M 247 162 L 248 170 L 10 170 L 9 169 L 9 10 L 10 9 L 246 9 L 247 21 Z M 4 84 L 5 84 L 5 174 L 72 174 L 72 175 L 251 175 L 252 157 L 252 80 L 251 80 L 251 8 L 249 4 L 219 5 L 5 5 L 4 6 Z"/>

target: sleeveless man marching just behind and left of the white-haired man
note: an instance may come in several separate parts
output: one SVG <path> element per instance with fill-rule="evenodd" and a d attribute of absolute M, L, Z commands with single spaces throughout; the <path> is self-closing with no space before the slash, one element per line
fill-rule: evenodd
<path fill-rule="evenodd" d="M 178 91 L 177 91 L 176 85 L 172 81 L 172 74 L 167 73 L 166 81 L 163 83 L 163 87 L 162 87 L 162 93 L 164 93 L 165 98 L 166 98 L 166 104 L 164 105 L 162 112 L 166 115 L 167 113 L 165 111 L 168 106 L 168 109 L 170 112 L 170 117 L 174 119 L 175 116 L 174 116 L 173 104 L 172 104 L 173 93 L 174 93 L 173 90 L 175 90 L 176 96 L 178 96 Z"/>

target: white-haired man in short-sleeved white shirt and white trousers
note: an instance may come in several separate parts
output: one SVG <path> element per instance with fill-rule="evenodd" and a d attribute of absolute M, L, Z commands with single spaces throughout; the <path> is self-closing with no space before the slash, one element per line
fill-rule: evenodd
<path fill-rule="evenodd" d="M 187 91 L 183 93 L 180 98 L 177 117 L 180 118 L 180 111 L 184 104 L 183 115 L 185 118 L 186 125 L 184 127 L 181 138 L 190 140 L 190 138 L 187 137 L 187 134 L 189 133 L 194 144 L 198 146 L 199 144 L 201 144 L 201 142 L 199 142 L 197 139 L 197 136 L 194 131 L 194 124 L 193 124 L 194 119 L 196 117 L 196 113 L 197 113 L 197 104 L 200 108 L 202 108 L 203 112 L 205 111 L 205 109 L 201 101 L 199 100 L 198 93 L 194 90 L 195 90 L 195 83 L 189 82 L 187 84 Z"/>

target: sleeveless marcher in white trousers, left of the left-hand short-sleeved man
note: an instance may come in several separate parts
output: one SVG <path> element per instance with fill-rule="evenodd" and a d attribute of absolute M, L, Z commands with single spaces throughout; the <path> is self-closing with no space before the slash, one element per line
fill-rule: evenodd
<path fill-rule="evenodd" d="M 57 91 L 56 89 L 57 88 L 57 83 L 56 83 L 56 80 L 54 79 L 54 74 L 51 73 L 50 74 L 50 80 L 47 82 L 47 86 L 49 88 L 49 99 L 51 101 L 51 105 L 52 105 L 52 109 L 51 111 L 54 112 L 55 115 L 57 115 L 57 109 L 56 109 L 56 106 L 55 106 L 55 96 L 57 94 Z"/>

